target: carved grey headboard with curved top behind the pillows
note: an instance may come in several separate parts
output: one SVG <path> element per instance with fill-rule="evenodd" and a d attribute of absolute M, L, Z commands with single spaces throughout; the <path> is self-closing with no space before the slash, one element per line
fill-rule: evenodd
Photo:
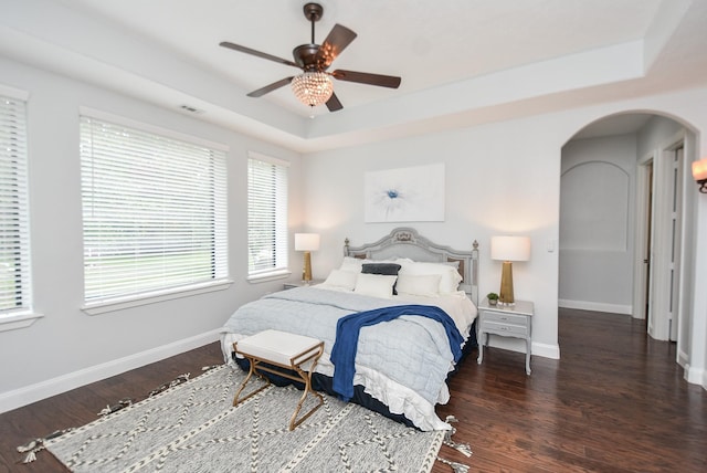
<path fill-rule="evenodd" d="M 409 257 L 413 261 L 458 262 L 462 276 L 460 288 L 478 305 L 478 242 L 474 240 L 471 251 L 457 251 L 433 243 L 421 236 L 415 229 L 397 228 L 390 234 L 373 243 L 351 246 L 349 239 L 344 242 L 344 255 L 369 260 L 394 260 Z"/>

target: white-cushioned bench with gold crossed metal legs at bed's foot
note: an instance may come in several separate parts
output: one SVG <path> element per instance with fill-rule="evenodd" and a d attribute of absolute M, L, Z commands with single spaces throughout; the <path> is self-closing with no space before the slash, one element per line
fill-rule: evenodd
<path fill-rule="evenodd" d="M 317 366 L 317 361 L 319 361 L 319 357 L 324 353 L 324 341 L 286 332 L 264 330 L 235 341 L 233 344 L 233 350 L 245 357 L 251 365 L 247 376 L 233 398 L 233 406 L 238 406 L 240 402 L 243 402 L 270 386 L 270 379 L 267 379 L 262 371 L 272 372 L 273 375 L 282 376 L 293 381 L 302 381 L 305 385 L 302 398 L 289 419 L 289 430 L 294 430 L 324 403 L 321 395 L 312 389 L 312 374 Z M 305 370 L 303 365 L 308 361 L 312 361 L 312 364 L 307 367 L 308 370 Z M 254 374 L 263 379 L 265 385 L 245 397 L 240 398 L 245 385 L 247 385 Z M 297 419 L 308 393 L 317 397 L 319 402 L 300 419 Z"/>

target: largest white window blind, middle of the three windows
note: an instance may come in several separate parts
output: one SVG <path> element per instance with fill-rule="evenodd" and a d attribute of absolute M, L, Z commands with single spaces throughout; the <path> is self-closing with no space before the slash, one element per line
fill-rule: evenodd
<path fill-rule="evenodd" d="M 225 154 L 81 117 L 85 301 L 228 277 Z"/>

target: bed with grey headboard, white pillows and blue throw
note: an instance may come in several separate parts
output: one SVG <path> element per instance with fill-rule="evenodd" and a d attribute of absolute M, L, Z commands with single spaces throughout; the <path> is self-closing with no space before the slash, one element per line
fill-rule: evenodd
<path fill-rule="evenodd" d="M 246 369 L 232 353 L 239 339 L 268 328 L 316 337 L 325 353 L 315 389 L 421 430 L 449 430 L 435 406 L 449 401 L 446 380 L 476 347 L 477 302 L 476 242 L 456 251 L 398 228 L 359 246 L 347 239 L 324 283 L 239 307 L 221 343 L 226 362 Z"/>

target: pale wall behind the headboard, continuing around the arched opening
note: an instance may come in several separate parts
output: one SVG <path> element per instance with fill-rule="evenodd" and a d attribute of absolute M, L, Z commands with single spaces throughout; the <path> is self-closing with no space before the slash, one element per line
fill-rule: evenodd
<path fill-rule="evenodd" d="M 707 108 L 699 105 L 705 101 L 707 90 L 699 88 L 308 155 L 304 160 L 306 221 L 309 230 L 323 234 L 323 248 L 315 255 L 314 271 L 324 277 L 339 264 L 345 238 L 352 244 L 370 242 L 398 225 L 363 222 L 362 183 L 367 171 L 444 162 L 446 220 L 405 224 L 453 248 L 468 249 L 477 239 L 482 294 L 496 290 L 500 278 L 500 265 L 489 259 L 490 236 L 529 235 L 532 239 L 530 261 L 514 265 L 515 293 L 517 298 L 536 303 L 534 354 L 558 357 L 561 347 L 557 338 L 557 248 L 562 147 L 588 124 L 622 112 L 668 115 L 699 133 L 707 129 Z M 699 149 L 707 149 L 704 136 L 700 137 L 701 141 L 696 144 L 697 156 Z M 635 153 L 634 144 L 634 159 Z M 707 252 L 707 234 L 704 234 L 707 204 L 700 201 L 707 198 L 694 188 L 686 188 L 685 192 L 686 200 L 696 202 L 695 218 L 703 222 L 695 225 L 695 246 L 687 251 L 687 260 L 693 263 L 690 277 L 696 287 L 706 287 L 707 259 L 695 260 L 695 256 Z M 707 385 L 704 348 L 707 297 L 697 293 L 692 297 L 689 317 L 697 329 L 693 340 L 698 341 L 690 347 L 688 378 Z M 508 344 L 505 339 L 494 340 Z"/>

